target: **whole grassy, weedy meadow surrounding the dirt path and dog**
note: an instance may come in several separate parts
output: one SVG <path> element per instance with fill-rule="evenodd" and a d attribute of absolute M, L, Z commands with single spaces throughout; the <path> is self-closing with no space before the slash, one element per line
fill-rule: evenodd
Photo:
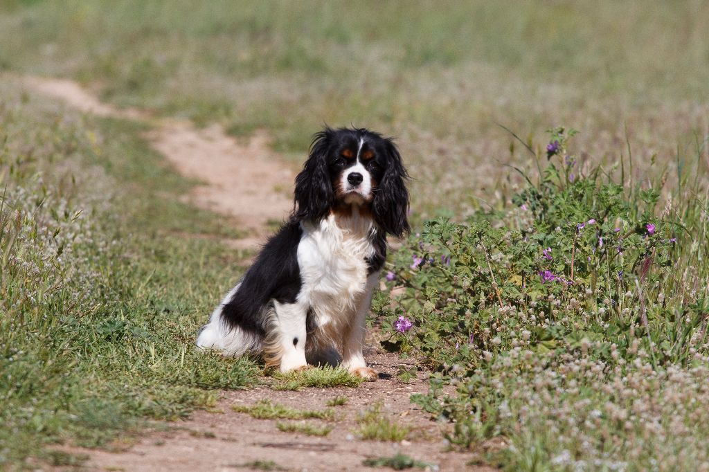
<path fill-rule="evenodd" d="M 2 2 L 0 463 L 259 379 L 190 349 L 240 260 L 181 235 L 238 227 L 179 203 L 194 182 L 139 125 L 24 93 L 38 74 L 267 130 L 291 162 L 323 123 L 396 136 L 415 224 L 372 322 L 435 372 L 414 401 L 450 444 L 508 470 L 709 470 L 708 21 L 698 1 Z"/>

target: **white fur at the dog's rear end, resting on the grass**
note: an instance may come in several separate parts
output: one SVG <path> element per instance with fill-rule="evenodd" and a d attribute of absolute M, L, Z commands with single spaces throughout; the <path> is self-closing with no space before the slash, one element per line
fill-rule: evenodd
<path fill-rule="evenodd" d="M 202 327 L 196 342 L 199 349 L 213 349 L 233 357 L 247 352 L 259 352 L 262 349 L 261 337 L 239 327 L 230 327 L 222 318 L 223 306 L 233 298 L 239 285 L 227 293 L 222 303 L 212 312 L 209 322 Z"/>

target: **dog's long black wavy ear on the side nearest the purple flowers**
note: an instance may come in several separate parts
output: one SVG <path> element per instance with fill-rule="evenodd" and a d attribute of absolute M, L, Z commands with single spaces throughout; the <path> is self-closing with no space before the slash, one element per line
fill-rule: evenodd
<path fill-rule="evenodd" d="M 396 145 L 391 139 L 384 140 L 386 150 L 386 170 L 379 182 L 372 211 L 374 220 L 381 229 L 390 235 L 402 237 L 411 228 L 408 225 L 408 190 L 406 180 L 408 174 L 401 162 Z"/>

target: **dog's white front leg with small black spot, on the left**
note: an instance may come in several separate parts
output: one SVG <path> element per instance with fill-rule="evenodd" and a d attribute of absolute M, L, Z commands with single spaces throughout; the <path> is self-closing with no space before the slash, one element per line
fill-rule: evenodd
<path fill-rule="evenodd" d="M 306 362 L 306 315 L 302 303 L 278 303 L 272 332 L 264 351 L 267 366 L 279 366 L 281 372 L 303 369 Z"/>

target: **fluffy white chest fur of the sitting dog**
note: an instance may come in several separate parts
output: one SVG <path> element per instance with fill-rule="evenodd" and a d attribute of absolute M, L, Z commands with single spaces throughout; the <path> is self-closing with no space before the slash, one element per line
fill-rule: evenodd
<path fill-rule="evenodd" d="M 318 325 L 346 325 L 352 318 L 367 286 L 372 231 L 372 218 L 357 207 L 345 215 L 331 214 L 318 225 L 303 223 L 298 299 L 312 308 Z"/>

